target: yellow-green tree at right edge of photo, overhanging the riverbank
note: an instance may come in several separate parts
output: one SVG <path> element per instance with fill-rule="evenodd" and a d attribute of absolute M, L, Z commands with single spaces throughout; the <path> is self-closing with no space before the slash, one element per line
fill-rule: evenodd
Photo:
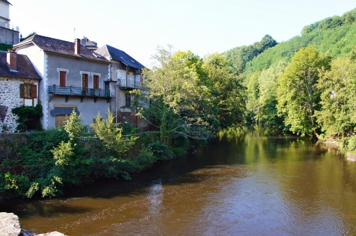
<path fill-rule="evenodd" d="M 321 130 L 327 135 L 348 136 L 356 128 L 356 64 L 337 58 L 330 71 L 321 73 L 318 88 L 321 110 L 316 111 Z"/>

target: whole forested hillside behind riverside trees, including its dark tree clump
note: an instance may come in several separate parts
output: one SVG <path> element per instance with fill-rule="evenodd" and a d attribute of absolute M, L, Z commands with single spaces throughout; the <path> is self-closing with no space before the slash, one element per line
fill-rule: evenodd
<path fill-rule="evenodd" d="M 277 44 L 267 35 L 267 38 L 265 36 L 260 42 L 231 49 L 225 54 L 237 72 L 243 72 L 247 77 L 250 73 L 270 66 L 275 67 L 281 60 L 290 62 L 299 49 L 309 44 L 323 54 L 329 52 L 333 58 L 345 56 L 351 52 L 353 45 L 356 45 L 355 20 L 356 8 L 341 17 L 325 18 L 307 25 L 302 29 L 301 36 L 295 36 L 288 41 Z M 259 44 L 266 41 L 266 46 L 258 50 Z"/>

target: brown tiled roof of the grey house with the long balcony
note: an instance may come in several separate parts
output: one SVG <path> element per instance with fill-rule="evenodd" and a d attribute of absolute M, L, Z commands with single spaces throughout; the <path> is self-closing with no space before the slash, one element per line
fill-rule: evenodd
<path fill-rule="evenodd" d="M 93 51 L 83 47 L 82 45 L 80 45 L 80 55 L 77 55 L 74 53 L 74 43 L 73 42 L 68 42 L 68 41 L 51 38 L 51 37 L 46 37 L 46 36 L 40 36 L 37 34 L 35 34 L 31 37 L 28 37 L 25 40 L 23 40 L 22 42 L 14 45 L 14 48 L 18 48 L 20 45 L 28 43 L 28 42 L 33 42 L 34 44 L 36 44 L 40 49 L 42 49 L 45 52 L 50 52 L 50 53 L 55 53 L 55 54 L 64 54 L 64 55 L 74 56 L 74 57 L 82 58 L 82 59 L 89 59 L 89 60 L 110 63 L 110 61 L 107 60 L 105 57 L 102 57 L 98 54 L 97 55 L 93 54 Z"/>

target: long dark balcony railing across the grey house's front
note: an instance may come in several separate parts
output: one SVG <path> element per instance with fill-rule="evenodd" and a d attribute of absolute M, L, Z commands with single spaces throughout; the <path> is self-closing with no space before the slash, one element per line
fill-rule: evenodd
<path fill-rule="evenodd" d="M 48 86 L 48 93 L 53 95 L 110 97 L 110 90 L 89 89 L 77 87 L 62 87 L 58 85 Z"/>

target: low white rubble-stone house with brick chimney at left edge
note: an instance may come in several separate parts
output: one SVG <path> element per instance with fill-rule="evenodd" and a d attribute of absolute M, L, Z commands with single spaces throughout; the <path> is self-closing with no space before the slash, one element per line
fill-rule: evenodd
<path fill-rule="evenodd" d="M 7 53 L 0 51 L 0 133 L 16 130 L 17 116 L 12 109 L 22 104 L 37 105 L 40 80 L 26 55 L 11 50 Z"/>

